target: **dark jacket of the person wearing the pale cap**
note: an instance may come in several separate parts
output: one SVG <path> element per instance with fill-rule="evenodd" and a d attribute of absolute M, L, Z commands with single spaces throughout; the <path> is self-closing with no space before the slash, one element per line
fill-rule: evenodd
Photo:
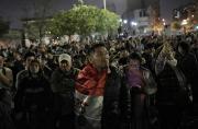
<path fill-rule="evenodd" d="M 55 112 L 68 115 L 74 112 L 75 78 L 78 69 L 72 68 L 68 72 L 56 69 L 51 78 L 51 87 L 54 93 Z"/>

